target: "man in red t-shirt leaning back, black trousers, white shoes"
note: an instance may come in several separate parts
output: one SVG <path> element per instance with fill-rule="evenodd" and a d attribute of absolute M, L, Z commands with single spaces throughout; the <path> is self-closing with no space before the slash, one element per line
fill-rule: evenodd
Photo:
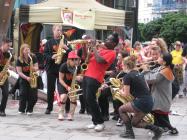
<path fill-rule="evenodd" d="M 88 129 L 95 129 L 95 131 L 104 130 L 104 120 L 101 111 L 96 101 L 96 93 L 101 83 L 103 82 L 105 71 L 113 63 L 116 58 L 114 47 L 118 44 L 119 38 L 117 33 L 108 36 L 104 47 L 93 47 L 93 53 L 88 62 L 88 69 L 83 78 L 83 94 L 88 104 L 89 112 L 92 116 L 92 124 L 88 125 Z"/>

